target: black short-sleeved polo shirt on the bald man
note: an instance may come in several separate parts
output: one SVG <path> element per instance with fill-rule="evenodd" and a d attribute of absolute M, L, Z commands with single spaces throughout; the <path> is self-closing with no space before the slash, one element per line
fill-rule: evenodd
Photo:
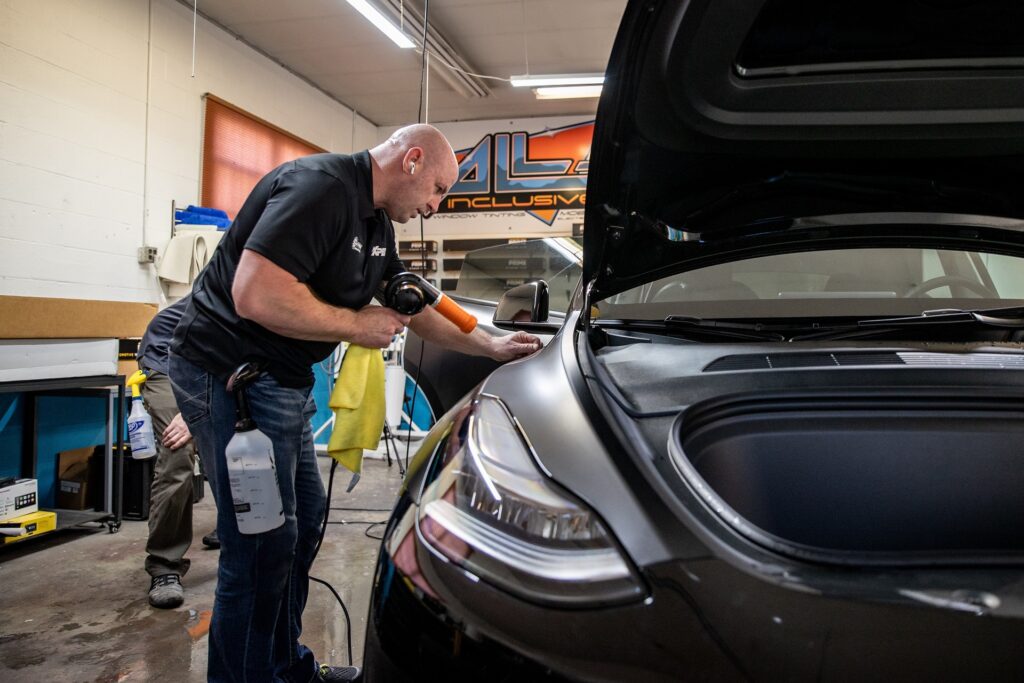
<path fill-rule="evenodd" d="M 256 360 L 285 386 L 309 386 L 312 364 L 338 345 L 284 337 L 239 317 L 231 283 L 243 249 L 270 259 L 323 301 L 352 309 L 404 270 L 394 226 L 374 209 L 368 152 L 313 155 L 279 166 L 249 195 L 196 280 L 174 331 L 171 349 L 221 378 Z"/>

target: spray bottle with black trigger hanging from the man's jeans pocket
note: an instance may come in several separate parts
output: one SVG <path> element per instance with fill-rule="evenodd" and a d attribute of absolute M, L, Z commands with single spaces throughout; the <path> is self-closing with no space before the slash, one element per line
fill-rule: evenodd
<path fill-rule="evenodd" d="M 234 519 L 242 533 L 262 533 L 285 523 L 278 470 L 274 467 L 273 442 L 261 432 L 249 412 L 246 387 L 259 376 L 259 368 L 247 362 L 227 380 L 227 390 L 234 394 L 238 422 L 234 435 L 227 442 L 227 480 L 234 503 Z"/>

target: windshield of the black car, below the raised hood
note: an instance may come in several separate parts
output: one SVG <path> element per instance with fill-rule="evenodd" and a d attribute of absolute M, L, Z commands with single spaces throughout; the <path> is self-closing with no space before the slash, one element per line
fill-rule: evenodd
<path fill-rule="evenodd" d="M 688 270 L 600 302 L 601 318 L 912 315 L 1024 305 L 1024 259 L 951 249 L 837 249 Z"/>

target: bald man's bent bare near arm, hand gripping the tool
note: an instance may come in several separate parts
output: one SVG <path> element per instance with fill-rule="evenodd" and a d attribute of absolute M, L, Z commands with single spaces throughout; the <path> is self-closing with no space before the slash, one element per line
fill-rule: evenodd
<path fill-rule="evenodd" d="M 231 298 L 241 317 L 294 339 L 381 348 L 409 324 L 408 315 L 383 306 L 352 310 L 325 303 L 295 275 L 249 249 L 239 259 Z"/>

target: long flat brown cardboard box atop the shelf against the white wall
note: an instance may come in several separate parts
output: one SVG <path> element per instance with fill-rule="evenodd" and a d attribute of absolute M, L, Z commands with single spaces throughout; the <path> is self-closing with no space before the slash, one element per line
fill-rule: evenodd
<path fill-rule="evenodd" d="M 0 339 L 141 337 L 157 304 L 0 296 Z"/>

